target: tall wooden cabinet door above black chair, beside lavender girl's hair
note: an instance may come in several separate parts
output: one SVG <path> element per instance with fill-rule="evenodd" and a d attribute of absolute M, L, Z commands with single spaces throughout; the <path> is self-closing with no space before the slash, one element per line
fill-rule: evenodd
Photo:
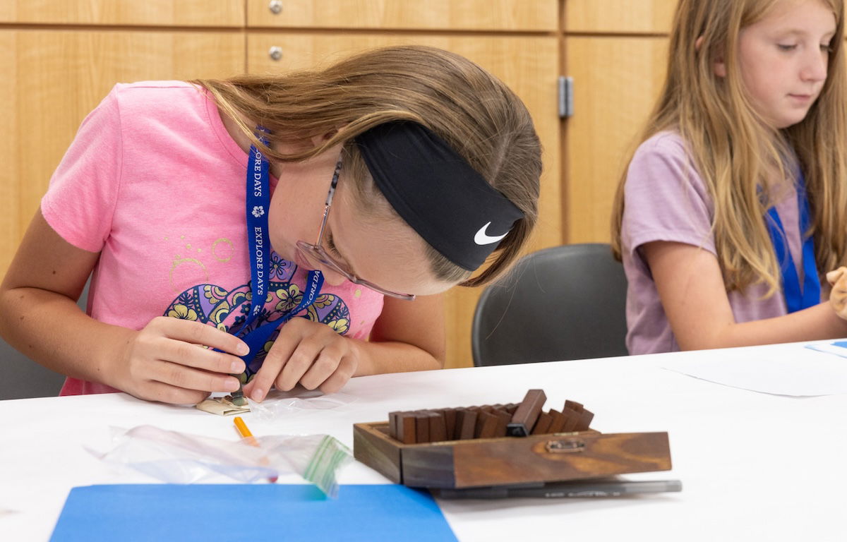
<path fill-rule="evenodd" d="M 564 47 L 574 109 L 566 123 L 567 241 L 606 243 L 617 182 L 664 81 L 667 38 L 573 36 Z"/>

